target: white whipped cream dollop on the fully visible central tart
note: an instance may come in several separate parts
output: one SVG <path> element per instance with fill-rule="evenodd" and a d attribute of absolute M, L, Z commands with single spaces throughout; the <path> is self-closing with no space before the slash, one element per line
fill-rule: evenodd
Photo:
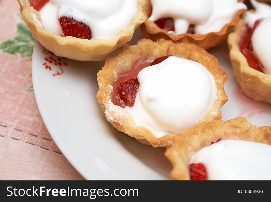
<path fill-rule="evenodd" d="M 157 137 L 187 131 L 200 122 L 216 101 L 214 76 L 203 65 L 176 56 L 138 73 L 133 107 L 124 109 L 136 126 Z"/>

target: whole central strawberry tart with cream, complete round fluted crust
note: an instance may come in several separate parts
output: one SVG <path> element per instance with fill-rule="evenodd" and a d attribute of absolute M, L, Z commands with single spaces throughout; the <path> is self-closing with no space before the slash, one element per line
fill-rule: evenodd
<path fill-rule="evenodd" d="M 190 43 L 140 40 L 125 45 L 98 72 L 97 100 L 116 129 L 154 147 L 222 117 L 226 73 L 214 56 Z"/>

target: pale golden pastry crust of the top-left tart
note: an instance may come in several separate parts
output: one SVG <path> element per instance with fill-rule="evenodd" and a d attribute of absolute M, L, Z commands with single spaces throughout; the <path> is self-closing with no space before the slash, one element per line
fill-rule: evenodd
<path fill-rule="evenodd" d="M 39 12 L 30 7 L 29 0 L 18 0 L 23 19 L 33 37 L 56 56 L 82 61 L 100 61 L 113 51 L 131 40 L 134 30 L 144 22 L 146 16 L 142 10 L 145 0 L 138 0 L 138 11 L 132 22 L 117 36 L 111 39 L 78 39 L 72 36 L 62 37 L 46 31 L 40 22 Z"/>

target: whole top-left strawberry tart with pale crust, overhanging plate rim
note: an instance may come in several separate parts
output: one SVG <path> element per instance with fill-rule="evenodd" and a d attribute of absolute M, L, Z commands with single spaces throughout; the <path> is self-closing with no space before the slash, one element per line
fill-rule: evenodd
<path fill-rule="evenodd" d="M 38 2 L 18 0 L 33 37 L 56 56 L 74 60 L 104 60 L 145 20 L 144 0 Z"/>

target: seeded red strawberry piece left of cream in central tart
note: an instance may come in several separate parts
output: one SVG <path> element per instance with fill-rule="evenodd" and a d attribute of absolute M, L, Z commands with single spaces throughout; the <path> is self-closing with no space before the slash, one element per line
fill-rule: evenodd
<path fill-rule="evenodd" d="M 118 97 L 123 105 L 132 107 L 135 103 L 136 94 L 139 89 L 137 78 L 126 80 L 118 85 Z"/>

